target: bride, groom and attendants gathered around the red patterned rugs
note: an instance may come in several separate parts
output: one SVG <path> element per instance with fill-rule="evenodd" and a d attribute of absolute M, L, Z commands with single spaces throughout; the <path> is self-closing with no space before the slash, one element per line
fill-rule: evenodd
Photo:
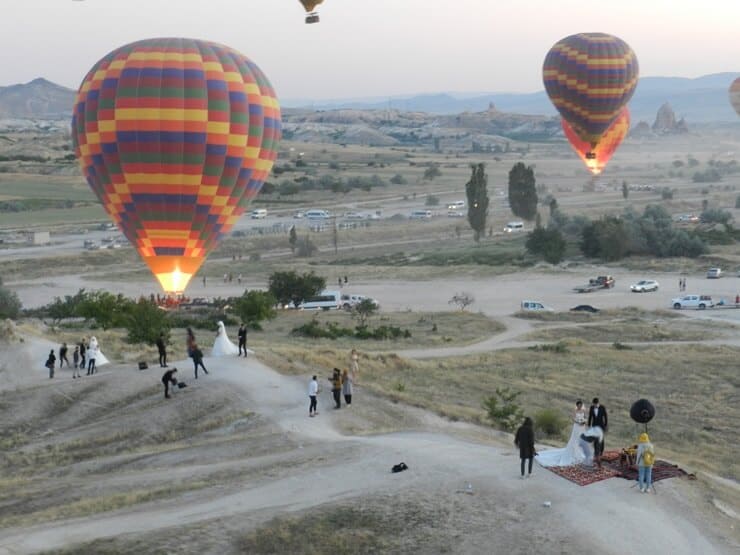
<path fill-rule="evenodd" d="M 526 477 L 532 475 L 532 462 L 537 462 L 544 467 L 562 467 L 578 464 L 594 464 L 601 468 L 601 457 L 604 454 L 606 444 L 606 432 L 609 427 L 609 417 L 606 407 L 603 406 L 598 397 L 594 397 L 588 411 L 583 406 L 583 401 L 576 401 L 573 410 L 573 427 L 571 428 L 568 443 L 562 449 L 548 449 L 538 453 L 534 446 L 534 426 L 532 419 L 526 417 L 524 423 L 516 431 L 514 443 L 519 447 L 519 458 L 521 460 L 521 477 L 525 477 L 525 466 L 528 463 Z M 647 493 L 652 487 L 652 467 L 655 459 L 655 450 L 647 433 L 638 438 L 635 464 L 638 468 L 638 483 L 640 491 Z"/>

